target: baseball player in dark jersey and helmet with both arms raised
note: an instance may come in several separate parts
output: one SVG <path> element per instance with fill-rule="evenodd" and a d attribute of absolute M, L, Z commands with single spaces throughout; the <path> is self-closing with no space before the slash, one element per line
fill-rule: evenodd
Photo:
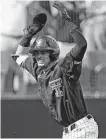
<path fill-rule="evenodd" d="M 46 14 L 40 13 L 27 27 L 27 33 L 12 57 L 39 83 L 44 105 L 55 121 L 63 126 L 63 139 L 97 138 L 98 125 L 87 112 L 79 82 L 87 42 L 63 5 L 55 2 L 53 6 L 59 10 L 75 47 L 59 60 L 60 48 L 53 37 L 37 36 L 30 45 L 33 36 L 42 30 L 47 20 Z"/>

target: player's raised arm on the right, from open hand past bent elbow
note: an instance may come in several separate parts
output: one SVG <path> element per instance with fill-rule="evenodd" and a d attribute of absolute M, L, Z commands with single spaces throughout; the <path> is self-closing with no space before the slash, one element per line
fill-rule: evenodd
<path fill-rule="evenodd" d="M 61 12 L 62 18 L 75 41 L 76 45 L 71 50 L 72 57 L 76 61 L 81 61 L 87 48 L 87 42 L 84 36 L 78 30 L 78 27 L 72 22 L 71 17 L 67 13 L 67 10 L 60 2 L 55 2 L 53 6 Z"/>

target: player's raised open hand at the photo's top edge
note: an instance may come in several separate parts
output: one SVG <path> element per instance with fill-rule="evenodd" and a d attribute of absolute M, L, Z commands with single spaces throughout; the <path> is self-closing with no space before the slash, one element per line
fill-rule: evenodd
<path fill-rule="evenodd" d="M 68 15 L 67 9 L 64 7 L 62 3 L 60 3 L 59 1 L 55 1 L 53 7 L 55 7 L 59 11 L 60 16 L 62 16 L 63 19 L 71 19 Z"/>

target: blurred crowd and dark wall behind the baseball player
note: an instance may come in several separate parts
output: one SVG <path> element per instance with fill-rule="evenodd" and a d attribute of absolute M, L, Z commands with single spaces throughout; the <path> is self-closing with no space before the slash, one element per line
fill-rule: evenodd
<path fill-rule="evenodd" d="M 99 125 L 99 137 L 106 137 L 106 1 L 61 1 L 72 21 L 80 27 L 88 48 L 80 81 L 88 111 Z M 60 58 L 75 45 L 73 38 L 52 7 L 53 1 L 2 1 L 0 39 L 1 137 L 60 138 L 62 127 L 43 106 L 37 82 L 11 58 L 24 35 L 23 29 L 41 12 L 47 23 L 39 33 L 59 43 Z"/>

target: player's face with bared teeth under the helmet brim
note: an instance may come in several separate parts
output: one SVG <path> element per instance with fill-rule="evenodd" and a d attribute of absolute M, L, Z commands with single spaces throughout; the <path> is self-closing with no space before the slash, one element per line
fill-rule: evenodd
<path fill-rule="evenodd" d="M 50 52 L 49 51 L 36 51 L 34 57 L 38 63 L 38 66 L 47 67 L 50 64 Z"/>

